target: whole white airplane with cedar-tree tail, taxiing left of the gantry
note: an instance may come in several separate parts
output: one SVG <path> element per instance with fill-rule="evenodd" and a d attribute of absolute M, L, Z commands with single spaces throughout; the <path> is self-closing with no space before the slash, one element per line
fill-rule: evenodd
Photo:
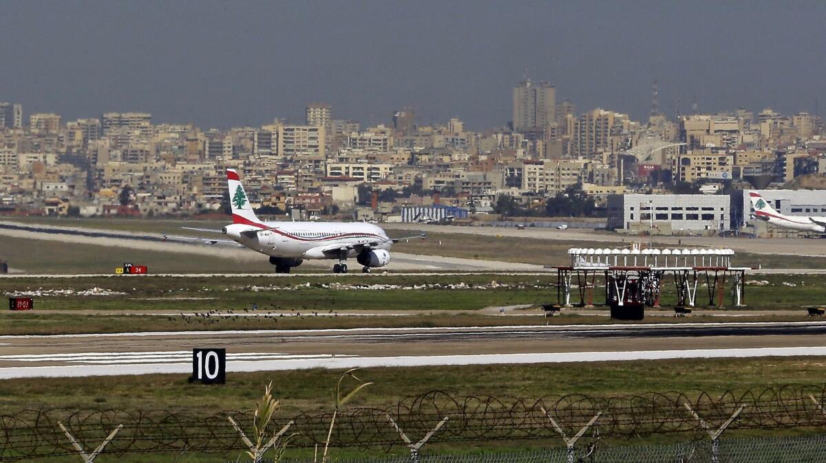
<path fill-rule="evenodd" d="M 366 222 L 262 222 L 249 205 L 238 172 L 226 170 L 230 189 L 232 224 L 221 231 L 184 227 L 199 232 L 221 232 L 232 240 L 166 236 L 167 240 L 202 241 L 207 244 L 246 246 L 269 256 L 277 274 L 288 274 L 306 259 L 337 259 L 334 274 L 346 274 L 348 257 L 363 265 L 362 272 L 390 262 L 390 247 L 400 240 L 424 238 L 425 234 L 392 239 L 382 228 Z"/>

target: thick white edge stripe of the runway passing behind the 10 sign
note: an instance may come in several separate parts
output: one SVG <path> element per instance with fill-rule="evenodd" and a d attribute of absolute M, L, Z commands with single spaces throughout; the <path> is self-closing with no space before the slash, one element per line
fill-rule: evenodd
<path fill-rule="evenodd" d="M 186 353 L 188 359 L 190 353 Z M 663 360 L 672 358 L 753 358 L 753 357 L 826 356 L 826 347 L 796 348 L 718 348 L 689 350 L 653 350 L 629 352 L 574 353 L 511 353 L 490 355 L 435 355 L 408 357 L 344 357 L 281 358 L 241 360 L 229 358 L 227 372 L 262 372 L 300 370 L 307 368 L 355 367 L 433 367 L 439 365 L 496 365 L 515 363 L 617 362 L 633 360 Z M 182 353 L 183 357 L 183 353 Z M 300 356 L 296 356 L 300 357 Z M 309 357 L 309 356 L 306 356 Z M 24 377 L 120 376 L 150 373 L 189 374 L 191 362 L 112 364 L 51 367 L 4 367 L 0 379 Z M 231 381 L 231 376 L 230 376 Z"/>

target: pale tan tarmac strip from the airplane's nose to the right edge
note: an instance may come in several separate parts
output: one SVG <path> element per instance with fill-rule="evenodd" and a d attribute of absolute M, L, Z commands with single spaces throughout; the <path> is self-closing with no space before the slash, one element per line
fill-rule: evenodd
<path fill-rule="evenodd" d="M 528 227 L 519 230 L 515 227 L 459 227 L 456 225 L 425 225 L 419 223 L 382 223 L 386 230 L 420 230 L 428 233 L 466 233 L 471 235 L 501 235 L 522 238 L 538 238 L 554 241 L 600 241 L 604 243 L 622 243 L 628 246 L 638 236 L 621 235 L 610 232 L 596 232 L 588 229 L 557 230 L 556 228 Z M 648 238 L 643 238 L 648 242 Z M 654 236 L 654 246 L 704 246 L 713 248 L 730 248 L 739 252 L 751 252 L 767 255 L 826 255 L 826 241 L 806 238 L 720 238 L 718 236 Z"/>

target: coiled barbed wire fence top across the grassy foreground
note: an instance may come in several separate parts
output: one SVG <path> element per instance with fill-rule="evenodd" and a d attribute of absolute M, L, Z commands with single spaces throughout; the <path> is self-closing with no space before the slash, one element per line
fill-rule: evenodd
<path fill-rule="evenodd" d="M 407 447 L 415 461 L 427 442 L 547 440 L 577 461 L 605 438 L 685 434 L 711 443 L 727 429 L 826 429 L 826 385 L 728 391 L 650 392 L 600 397 L 548 395 L 538 400 L 432 391 L 386 408 L 339 410 L 331 447 L 389 451 Z M 248 449 L 239 428 L 251 412 L 196 414 L 163 410 L 29 409 L 0 415 L 0 461 L 50 456 L 194 452 L 226 455 Z M 331 412 L 282 408 L 271 434 L 289 424 L 289 447 L 323 446 Z M 290 423 L 292 422 L 292 423 Z M 104 442 L 106 442 L 104 444 Z M 79 447 L 78 447 L 79 446 Z M 102 447 L 101 447 L 102 446 Z M 549 446 L 550 447 L 550 446 Z M 718 455 L 717 458 L 714 456 Z"/>

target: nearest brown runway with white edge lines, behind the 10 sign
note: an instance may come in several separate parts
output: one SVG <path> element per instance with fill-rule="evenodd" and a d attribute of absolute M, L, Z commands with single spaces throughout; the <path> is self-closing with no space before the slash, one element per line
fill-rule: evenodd
<path fill-rule="evenodd" d="M 826 355 L 826 322 L 262 330 L 0 337 L 0 379 L 191 372 L 192 348 L 228 372 L 662 358 Z"/>

